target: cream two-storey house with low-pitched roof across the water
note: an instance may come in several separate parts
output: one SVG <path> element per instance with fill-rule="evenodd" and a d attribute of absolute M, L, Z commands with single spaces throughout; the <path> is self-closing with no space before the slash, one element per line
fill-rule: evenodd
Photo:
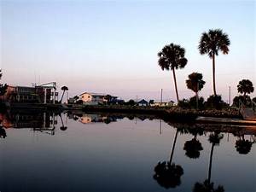
<path fill-rule="evenodd" d="M 105 102 L 104 94 L 84 92 L 79 96 L 80 99 L 83 101 L 83 104 L 86 105 L 98 105 L 103 104 L 103 102 Z"/>

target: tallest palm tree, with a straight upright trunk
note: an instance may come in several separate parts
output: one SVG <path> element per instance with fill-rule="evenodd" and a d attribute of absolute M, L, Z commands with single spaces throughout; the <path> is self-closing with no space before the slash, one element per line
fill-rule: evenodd
<path fill-rule="evenodd" d="M 210 29 L 201 35 L 198 49 L 201 55 L 207 54 L 212 59 L 213 94 L 216 96 L 215 86 L 215 55 L 221 50 L 223 54 L 229 53 L 230 39 L 221 29 Z"/>

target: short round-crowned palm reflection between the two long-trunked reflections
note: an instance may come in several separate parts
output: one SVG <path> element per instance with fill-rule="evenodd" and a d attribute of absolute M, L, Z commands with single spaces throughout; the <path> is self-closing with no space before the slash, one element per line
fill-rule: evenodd
<path fill-rule="evenodd" d="M 203 130 L 199 128 L 193 128 L 189 129 L 189 132 L 194 136 L 194 138 L 192 138 L 190 141 L 187 141 L 184 144 L 183 149 L 186 151 L 186 155 L 189 158 L 196 159 L 199 158 L 200 151 L 203 149 L 200 141 L 197 140 L 197 134 L 202 135 Z"/>

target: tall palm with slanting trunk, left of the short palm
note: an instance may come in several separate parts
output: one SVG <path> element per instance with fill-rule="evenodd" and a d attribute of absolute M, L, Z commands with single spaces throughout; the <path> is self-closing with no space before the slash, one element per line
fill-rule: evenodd
<path fill-rule="evenodd" d="M 158 64 L 162 70 L 172 70 L 174 85 L 176 90 L 177 102 L 178 93 L 177 93 L 177 81 L 175 69 L 183 68 L 187 65 L 188 60 L 185 58 L 185 49 L 177 44 L 166 45 L 159 53 Z"/>

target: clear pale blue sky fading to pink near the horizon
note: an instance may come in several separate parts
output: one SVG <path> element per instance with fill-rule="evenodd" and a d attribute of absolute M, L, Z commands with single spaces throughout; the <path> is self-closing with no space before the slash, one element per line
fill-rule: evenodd
<path fill-rule="evenodd" d="M 200 95 L 212 95 L 212 61 L 197 49 L 202 32 L 222 29 L 230 53 L 216 58 L 217 94 L 225 102 L 236 85 L 256 88 L 256 1 L 0 0 L 0 68 L 4 83 L 66 85 L 69 96 L 85 91 L 128 99 L 176 101 L 172 73 L 158 66 L 166 44 L 186 49 L 177 70 L 180 98 L 194 96 L 185 80 L 203 74 Z M 256 96 L 256 90 L 251 96 Z"/>

